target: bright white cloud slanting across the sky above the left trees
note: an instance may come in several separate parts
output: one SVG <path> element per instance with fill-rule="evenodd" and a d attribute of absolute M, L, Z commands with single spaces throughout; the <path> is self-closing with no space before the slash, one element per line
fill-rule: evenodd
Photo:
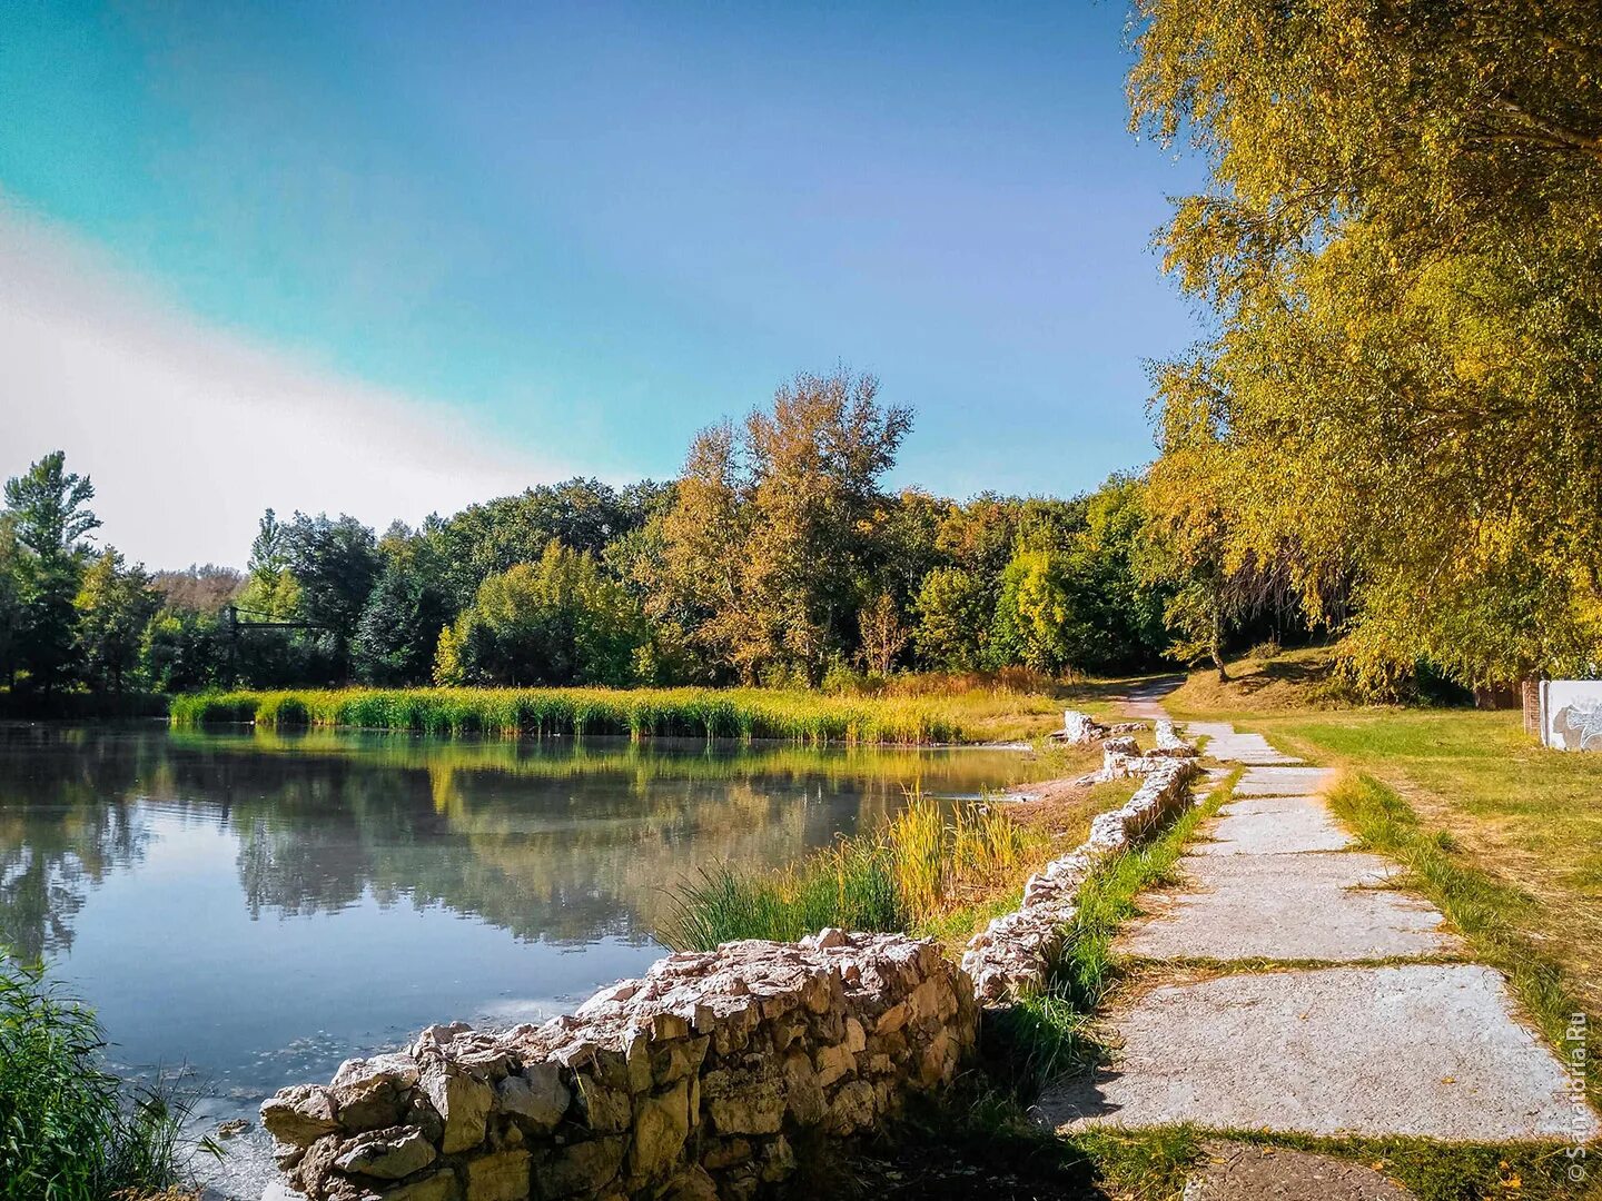
<path fill-rule="evenodd" d="M 210 328 L 0 200 L 0 476 L 56 448 L 95 480 L 99 540 L 151 567 L 242 565 L 268 506 L 381 532 L 574 474 Z"/>

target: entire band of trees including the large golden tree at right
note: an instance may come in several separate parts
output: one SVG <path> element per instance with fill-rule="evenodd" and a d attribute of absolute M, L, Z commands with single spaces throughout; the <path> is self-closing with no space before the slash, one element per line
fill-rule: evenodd
<path fill-rule="evenodd" d="M 798 376 L 679 479 L 381 536 L 268 512 L 250 570 L 93 549 L 59 453 L 6 485 L 0 679 L 819 685 L 1112 673 L 1266 633 L 1346 695 L 1602 673 L 1602 22 L 1591 0 L 1134 0 L 1131 128 L 1206 186 L 1158 231 L 1205 336 L 1155 463 L 1061 498 L 884 479 L 912 413 Z M 219 613 L 260 623 L 234 637 Z"/>

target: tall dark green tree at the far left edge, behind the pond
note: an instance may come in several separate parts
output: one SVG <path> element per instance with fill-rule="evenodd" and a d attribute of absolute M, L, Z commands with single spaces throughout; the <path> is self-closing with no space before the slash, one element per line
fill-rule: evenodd
<path fill-rule="evenodd" d="M 88 508 L 95 485 L 66 469 L 54 450 L 26 474 L 6 480 L 6 517 L 21 548 L 13 568 L 16 589 L 14 665 L 27 685 L 50 692 L 72 679 L 77 642 L 74 599 L 88 551 L 83 540 L 99 527 Z"/>

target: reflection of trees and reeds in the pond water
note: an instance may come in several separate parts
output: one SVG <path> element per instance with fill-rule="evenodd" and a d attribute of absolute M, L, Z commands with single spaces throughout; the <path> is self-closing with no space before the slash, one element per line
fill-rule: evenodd
<path fill-rule="evenodd" d="M 5 727 L 0 938 L 67 951 L 88 890 L 139 863 L 162 813 L 232 836 L 252 918 L 370 895 L 530 940 L 646 940 L 706 868 L 783 863 L 881 823 L 907 788 L 1030 770 L 990 751 Z"/>

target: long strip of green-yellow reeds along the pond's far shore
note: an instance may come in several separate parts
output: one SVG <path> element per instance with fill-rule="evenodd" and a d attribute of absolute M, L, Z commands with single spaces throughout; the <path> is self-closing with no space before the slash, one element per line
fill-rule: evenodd
<path fill-rule="evenodd" d="M 175 725 L 359 727 L 505 738 L 585 733 L 929 745 L 985 737 L 961 698 L 769 689 L 328 689 L 173 697 Z"/>

